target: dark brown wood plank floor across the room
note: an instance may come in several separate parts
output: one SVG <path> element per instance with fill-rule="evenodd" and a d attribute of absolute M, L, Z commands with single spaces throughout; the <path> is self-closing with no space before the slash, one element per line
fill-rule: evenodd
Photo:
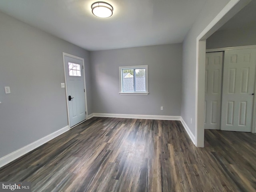
<path fill-rule="evenodd" d="M 256 134 L 205 131 L 196 148 L 180 121 L 91 118 L 0 168 L 34 192 L 254 192 Z"/>

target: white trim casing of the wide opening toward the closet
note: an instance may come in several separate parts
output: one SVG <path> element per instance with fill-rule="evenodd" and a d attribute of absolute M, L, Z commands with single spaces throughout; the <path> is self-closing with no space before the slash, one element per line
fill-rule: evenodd
<path fill-rule="evenodd" d="M 195 144 L 204 147 L 204 94 L 205 94 L 205 58 L 206 39 L 218 28 L 238 13 L 250 1 L 230 0 L 222 11 L 196 38 L 196 119 L 195 119 Z"/>

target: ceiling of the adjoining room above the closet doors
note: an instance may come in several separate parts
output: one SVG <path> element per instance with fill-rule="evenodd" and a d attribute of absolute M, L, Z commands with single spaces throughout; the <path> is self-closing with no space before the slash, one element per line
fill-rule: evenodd
<path fill-rule="evenodd" d="M 252 0 L 219 30 L 256 27 L 256 0 Z"/>

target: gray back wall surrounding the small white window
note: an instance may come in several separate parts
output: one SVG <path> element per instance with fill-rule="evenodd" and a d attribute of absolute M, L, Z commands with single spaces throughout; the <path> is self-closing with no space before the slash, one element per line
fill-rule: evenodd
<path fill-rule="evenodd" d="M 90 61 L 94 113 L 180 116 L 182 44 L 94 51 Z M 118 67 L 134 65 L 148 65 L 149 94 L 118 94 Z"/>

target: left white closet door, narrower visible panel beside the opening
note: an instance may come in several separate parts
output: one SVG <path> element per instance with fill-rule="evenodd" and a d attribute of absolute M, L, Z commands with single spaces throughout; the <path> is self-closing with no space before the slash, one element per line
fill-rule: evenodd
<path fill-rule="evenodd" d="M 223 52 L 206 53 L 204 128 L 220 129 Z"/>

